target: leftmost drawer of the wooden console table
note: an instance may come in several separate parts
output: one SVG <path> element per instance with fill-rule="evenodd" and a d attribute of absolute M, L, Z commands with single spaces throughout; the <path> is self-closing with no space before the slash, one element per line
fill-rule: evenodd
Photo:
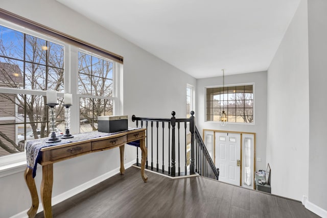
<path fill-rule="evenodd" d="M 89 151 L 91 151 L 91 142 L 86 142 L 83 144 L 78 144 L 75 146 L 69 146 L 65 148 L 54 149 L 50 151 L 50 160 L 54 161 L 61 158 L 89 152 Z"/>

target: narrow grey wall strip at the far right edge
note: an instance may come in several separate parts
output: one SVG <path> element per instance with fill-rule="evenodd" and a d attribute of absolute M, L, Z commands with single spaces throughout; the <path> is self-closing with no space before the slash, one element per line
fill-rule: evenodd
<path fill-rule="evenodd" d="M 323 208 L 327 214 L 327 2 L 308 1 L 309 13 L 309 96 L 310 96 L 310 152 L 309 201 Z"/>

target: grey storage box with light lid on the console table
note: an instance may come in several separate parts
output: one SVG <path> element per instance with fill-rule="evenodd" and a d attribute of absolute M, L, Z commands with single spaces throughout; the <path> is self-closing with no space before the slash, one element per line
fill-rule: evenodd
<path fill-rule="evenodd" d="M 127 116 L 98 116 L 99 132 L 120 132 L 128 129 Z"/>

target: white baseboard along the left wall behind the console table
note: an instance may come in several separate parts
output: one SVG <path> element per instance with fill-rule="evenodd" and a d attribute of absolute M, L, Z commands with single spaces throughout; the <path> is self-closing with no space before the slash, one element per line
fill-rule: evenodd
<path fill-rule="evenodd" d="M 133 160 L 131 162 L 128 162 L 128 163 L 125 163 L 124 167 L 129 168 L 134 163 L 135 163 L 135 160 Z M 113 169 L 112 171 L 110 171 L 110 172 L 108 172 L 106 174 L 103 174 L 103 175 L 101 175 L 101 176 L 99 176 L 97 178 L 94 178 L 94 179 L 92 179 L 92 180 L 90 180 L 88 182 L 85 182 L 85 183 L 83 183 L 83 184 L 81 184 L 81 185 L 79 185 L 79 186 L 77 186 L 75 188 L 72 188 L 72 189 L 70 189 L 68 191 L 65 191 L 65 192 L 61 193 L 60 195 L 57 195 L 57 196 L 53 197 L 52 198 L 52 206 L 66 200 L 68 198 L 71 198 L 71 197 L 77 195 L 78 193 L 80 193 L 80 192 L 82 192 L 82 191 L 84 191 L 84 190 L 86 190 L 86 189 L 88 189 L 88 188 L 90 188 L 92 186 L 95 186 L 96 184 L 98 184 L 98 183 L 100 183 L 100 182 L 102 182 L 102 181 L 104 181 L 104 180 L 118 174 L 119 172 L 120 172 L 120 167 L 115 168 L 115 169 Z M 22 211 L 20 213 L 17 213 L 15 215 L 11 216 L 10 218 L 25 218 L 25 217 L 28 217 L 27 211 L 29 209 L 24 210 L 24 211 Z M 39 204 L 37 212 L 39 213 L 41 211 L 43 211 L 42 203 Z"/>

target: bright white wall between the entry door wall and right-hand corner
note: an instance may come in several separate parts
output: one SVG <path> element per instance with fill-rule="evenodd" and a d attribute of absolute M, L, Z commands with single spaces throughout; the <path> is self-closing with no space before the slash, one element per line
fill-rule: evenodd
<path fill-rule="evenodd" d="M 301 1 L 268 69 L 271 192 L 301 200 L 309 187 L 308 8 Z M 321 108 L 321 110 L 323 110 Z"/>

